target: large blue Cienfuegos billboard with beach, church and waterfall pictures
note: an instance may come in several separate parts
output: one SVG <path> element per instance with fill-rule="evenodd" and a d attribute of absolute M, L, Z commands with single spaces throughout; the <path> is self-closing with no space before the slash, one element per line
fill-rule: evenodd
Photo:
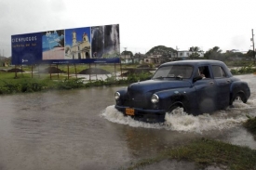
<path fill-rule="evenodd" d="M 119 25 L 11 36 L 12 64 L 119 63 Z"/>

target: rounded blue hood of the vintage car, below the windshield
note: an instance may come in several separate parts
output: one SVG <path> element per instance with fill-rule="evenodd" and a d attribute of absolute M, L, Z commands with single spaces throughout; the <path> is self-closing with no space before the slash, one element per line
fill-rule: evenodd
<path fill-rule="evenodd" d="M 187 80 L 147 80 L 128 85 L 128 92 L 152 92 L 166 90 L 170 88 L 182 88 L 191 86 Z"/>

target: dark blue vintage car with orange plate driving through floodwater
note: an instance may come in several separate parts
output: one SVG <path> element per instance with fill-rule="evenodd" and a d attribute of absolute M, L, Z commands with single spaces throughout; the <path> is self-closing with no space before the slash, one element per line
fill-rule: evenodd
<path fill-rule="evenodd" d="M 246 103 L 249 85 L 232 75 L 219 60 L 182 60 L 159 66 L 150 80 L 115 92 L 115 109 L 144 122 L 165 122 L 177 108 L 198 115 Z"/>

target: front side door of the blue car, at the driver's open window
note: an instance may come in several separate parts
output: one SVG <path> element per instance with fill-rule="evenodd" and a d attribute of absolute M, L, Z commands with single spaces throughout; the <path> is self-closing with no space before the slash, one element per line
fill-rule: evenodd
<path fill-rule="evenodd" d="M 216 84 L 209 72 L 209 66 L 200 66 L 198 72 L 195 72 L 195 76 L 198 76 L 199 73 L 204 73 L 206 77 L 194 83 L 198 109 L 200 112 L 215 111 Z"/>

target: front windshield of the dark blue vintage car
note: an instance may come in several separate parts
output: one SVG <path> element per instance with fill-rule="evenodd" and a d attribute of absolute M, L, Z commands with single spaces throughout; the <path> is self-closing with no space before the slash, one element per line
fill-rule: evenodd
<path fill-rule="evenodd" d="M 193 72 L 192 66 L 169 65 L 159 68 L 153 79 L 157 78 L 190 78 Z"/>

